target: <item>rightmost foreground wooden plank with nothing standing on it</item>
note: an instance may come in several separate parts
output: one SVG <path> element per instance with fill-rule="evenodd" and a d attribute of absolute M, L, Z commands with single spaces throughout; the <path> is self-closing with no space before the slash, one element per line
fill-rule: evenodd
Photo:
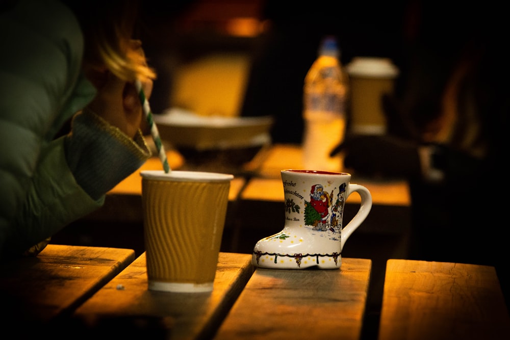
<path fill-rule="evenodd" d="M 379 340 L 510 339 L 494 267 L 388 260 Z"/>

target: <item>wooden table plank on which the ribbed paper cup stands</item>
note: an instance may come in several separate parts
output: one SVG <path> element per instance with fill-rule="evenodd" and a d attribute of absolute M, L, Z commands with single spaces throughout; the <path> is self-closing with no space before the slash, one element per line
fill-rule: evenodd
<path fill-rule="evenodd" d="M 125 331 L 142 320 L 151 323 L 142 325 L 144 331 L 163 332 L 167 339 L 211 338 L 252 273 L 251 255 L 220 252 L 213 292 L 153 292 L 147 290 L 143 253 L 83 304 L 75 317 L 84 320 L 92 333 L 106 322 L 120 323 L 120 331 Z"/>

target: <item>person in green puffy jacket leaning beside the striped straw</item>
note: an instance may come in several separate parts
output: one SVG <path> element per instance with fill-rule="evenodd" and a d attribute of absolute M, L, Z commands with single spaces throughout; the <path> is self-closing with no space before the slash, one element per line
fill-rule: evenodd
<path fill-rule="evenodd" d="M 2 3 L 0 256 L 37 255 L 151 156 L 134 82 L 149 97 L 156 74 L 133 40 L 138 8 Z"/>

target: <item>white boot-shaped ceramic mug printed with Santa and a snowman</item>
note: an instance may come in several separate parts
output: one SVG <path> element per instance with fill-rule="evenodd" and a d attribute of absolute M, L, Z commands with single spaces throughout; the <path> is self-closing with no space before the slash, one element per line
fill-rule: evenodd
<path fill-rule="evenodd" d="M 339 269 L 342 249 L 372 208 L 367 188 L 350 184 L 351 175 L 314 170 L 282 170 L 285 226 L 257 242 L 252 264 L 273 269 Z M 344 204 L 357 192 L 358 213 L 343 227 Z"/>

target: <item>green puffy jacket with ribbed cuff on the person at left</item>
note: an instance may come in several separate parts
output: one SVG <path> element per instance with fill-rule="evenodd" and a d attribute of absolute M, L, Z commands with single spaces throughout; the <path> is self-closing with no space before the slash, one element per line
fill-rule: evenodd
<path fill-rule="evenodd" d="M 20 254 L 104 202 L 150 156 L 93 113 L 84 40 L 58 1 L 0 9 L 0 256 Z M 73 117 L 72 133 L 56 139 Z"/>

